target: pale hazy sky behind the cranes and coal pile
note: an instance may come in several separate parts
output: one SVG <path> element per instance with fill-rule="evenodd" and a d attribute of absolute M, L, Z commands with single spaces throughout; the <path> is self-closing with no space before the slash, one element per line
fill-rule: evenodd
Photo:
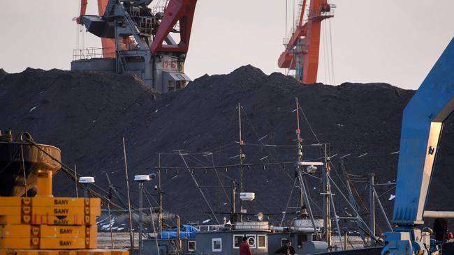
<path fill-rule="evenodd" d="M 155 0 L 157 1 L 157 0 Z M 288 1 L 288 29 L 293 0 Z M 286 0 L 198 0 L 185 71 L 192 79 L 251 64 L 284 72 Z M 295 0 L 298 4 L 299 0 Z M 76 47 L 79 0 L 2 0 L 0 68 L 68 70 Z M 332 0 L 335 17 L 323 22 L 318 82 L 387 82 L 416 89 L 454 36 L 453 0 Z M 297 9 L 298 10 L 298 9 Z M 89 0 L 87 14 L 96 14 Z M 332 35 L 332 47 L 327 39 Z M 85 47 L 100 47 L 85 33 Z M 323 47 L 325 45 L 325 47 Z M 334 72 L 325 68 L 331 52 Z M 330 61 L 328 63 L 331 63 Z M 330 65 L 328 65 L 330 66 Z"/>

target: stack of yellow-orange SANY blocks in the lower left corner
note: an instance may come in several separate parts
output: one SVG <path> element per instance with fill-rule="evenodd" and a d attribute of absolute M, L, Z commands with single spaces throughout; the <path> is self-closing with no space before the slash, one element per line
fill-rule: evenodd
<path fill-rule="evenodd" d="M 100 199 L 52 196 L 52 171 L 38 171 L 35 197 L 0 197 L 0 255 L 129 255 L 97 248 Z"/>

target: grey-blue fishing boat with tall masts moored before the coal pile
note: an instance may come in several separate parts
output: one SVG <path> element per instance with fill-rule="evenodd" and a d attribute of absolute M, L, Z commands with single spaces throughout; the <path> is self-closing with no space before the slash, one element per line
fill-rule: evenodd
<path fill-rule="evenodd" d="M 300 107 L 298 104 L 298 98 L 295 98 L 296 109 L 299 111 Z M 241 105 L 238 105 L 238 109 L 241 109 Z M 238 112 L 239 119 L 241 121 L 241 112 Z M 340 231 L 337 231 L 340 239 L 340 244 L 344 242 L 343 247 L 333 245 L 332 241 L 332 219 L 339 218 L 335 213 L 334 203 L 332 203 L 332 194 L 330 190 L 330 178 L 329 178 L 329 166 L 330 159 L 325 153 L 323 162 L 305 162 L 302 159 L 302 139 L 300 138 L 300 127 L 299 127 L 299 114 L 297 114 L 297 127 L 296 127 L 296 144 L 297 148 L 297 159 L 294 162 L 295 166 L 295 183 L 299 190 L 298 204 L 293 207 L 295 209 L 295 217 L 284 221 L 286 213 L 282 216 L 280 224 L 273 225 L 272 222 L 268 221 L 268 218 L 263 215 L 262 212 L 247 213 L 243 208 L 244 203 L 247 201 L 253 201 L 255 194 L 252 192 L 244 192 L 242 187 L 242 178 L 240 177 L 240 183 L 236 183 L 240 186 L 240 191 L 237 192 L 235 187 L 235 181 L 233 181 L 230 198 L 231 201 L 235 201 L 235 196 L 239 195 L 240 198 L 240 211 L 235 210 L 235 206 L 232 206 L 229 213 L 229 219 L 224 217 L 222 224 L 199 224 L 188 228 L 186 225 L 178 223 L 174 229 L 166 230 L 158 233 L 147 233 L 147 238 L 143 240 L 142 254 L 240 254 L 240 243 L 242 238 L 246 236 L 249 247 L 251 248 L 252 254 L 274 254 L 277 249 L 284 246 L 286 240 L 291 240 L 293 247 L 295 248 L 296 254 L 310 255 L 310 254 L 380 254 L 382 247 L 367 247 L 364 249 L 346 249 L 346 239 L 342 240 Z M 242 141 L 241 134 L 241 123 L 239 123 L 239 157 L 240 164 L 239 169 L 242 171 L 244 167 L 250 165 L 244 163 L 244 142 Z M 314 146 L 321 147 L 326 152 L 328 144 L 316 144 Z M 180 152 L 181 154 L 181 152 Z M 184 160 L 184 157 L 182 157 Z M 187 166 L 187 164 L 186 164 Z M 311 203 L 309 203 L 309 195 L 307 187 L 305 187 L 305 177 L 312 175 L 321 167 L 322 170 L 322 186 L 325 208 L 323 217 L 314 217 L 312 212 Z M 194 169 L 187 169 L 190 173 Z M 192 173 L 191 173 L 192 174 Z M 158 174 L 160 176 L 160 174 Z M 242 176 L 242 174 L 240 174 Z M 194 179 L 196 182 L 196 180 Z M 161 183 L 161 180 L 159 180 Z M 199 187 L 198 183 L 196 186 Z M 161 190 L 158 187 L 157 190 Z M 201 194 L 203 192 L 200 190 Z M 205 200 L 207 203 L 207 201 Z M 235 203 L 235 202 L 234 202 Z M 208 208 L 210 205 L 207 203 Z M 331 208 L 331 209 L 330 209 Z M 286 210 L 288 209 L 288 206 Z M 330 210 L 332 210 L 330 212 Z M 334 212 L 333 212 L 334 211 Z M 211 211 L 212 212 L 212 211 Z M 332 217 L 331 213 L 335 216 Z M 291 213 L 289 213 L 291 214 Z M 254 219 L 251 219 L 251 215 L 255 215 Z M 212 217 L 216 217 L 212 212 Z M 159 217 L 161 219 L 161 217 Z M 353 218 L 352 218 L 353 219 Z M 359 220 L 359 218 L 356 218 Z M 287 222 L 287 224 L 285 224 Z M 334 220 L 337 225 L 337 221 Z M 161 222 L 159 222 L 161 226 Z M 274 223 L 275 224 L 275 223 Z M 160 227 L 161 229 L 161 227 Z M 191 229 L 191 231 L 186 231 Z M 339 225 L 336 227 L 339 230 Z M 346 235 L 344 236 L 346 238 Z"/>

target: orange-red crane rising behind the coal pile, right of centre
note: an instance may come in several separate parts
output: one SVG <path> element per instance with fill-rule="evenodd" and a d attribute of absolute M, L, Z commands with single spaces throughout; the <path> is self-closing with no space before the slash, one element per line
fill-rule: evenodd
<path fill-rule="evenodd" d="M 310 3 L 305 22 L 307 1 Z M 301 0 L 299 6 L 295 28 L 291 37 L 284 39 L 286 48 L 277 64 L 279 68 L 295 70 L 295 78 L 302 84 L 314 84 L 317 82 L 321 22 L 334 17 L 334 12 L 327 0 Z"/>

